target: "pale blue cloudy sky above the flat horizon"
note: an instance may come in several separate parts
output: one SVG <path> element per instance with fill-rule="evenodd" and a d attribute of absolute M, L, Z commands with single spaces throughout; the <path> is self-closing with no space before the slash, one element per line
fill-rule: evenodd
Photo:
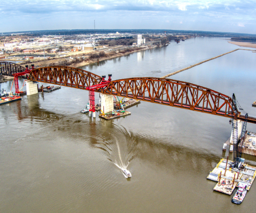
<path fill-rule="evenodd" d="M 174 29 L 256 34 L 256 0 L 0 0 L 0 32 Z"/>

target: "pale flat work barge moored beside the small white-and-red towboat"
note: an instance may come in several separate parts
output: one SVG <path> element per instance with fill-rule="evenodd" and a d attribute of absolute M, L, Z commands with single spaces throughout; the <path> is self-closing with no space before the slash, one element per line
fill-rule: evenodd
<path fill-rule="evenodd" d="M 237 170 L 232 169 L 232 164 L 233 161 L 222 158 L 209 173 L 207 179 L 218 182 L 213 190 L 231 195 L 240 182 L 247 184 L 246 190 L 250 190 L 256 176 L 256 167 L 243 163 L 241 170 Z"/>

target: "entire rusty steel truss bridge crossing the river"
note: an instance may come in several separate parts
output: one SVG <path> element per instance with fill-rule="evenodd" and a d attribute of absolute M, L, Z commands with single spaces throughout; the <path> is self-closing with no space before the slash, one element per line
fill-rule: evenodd
<path fill-rule="evenodd" d="M 23 72 L 25 68 L 15 63 L 0 63 L 3 75 Z M 89 90 L 88 87 L 102 83 L 99 75 L 69 66 L 47 66 L 32 69 L 28 80 Z M 110 81 L 107 86 L 96 88 L 95 92 L 134 98 L 155 104 L 163 104 L 181 109 L 189 109 L 212 115 L 232 118 L 232 98 L 212 89 L 193 83 L 168 78 L 126 78 Z M 238 119 L 245 115 L 238 112 Z M 247 122 L 256 124 L 256 118 L 247 117 Z"/>

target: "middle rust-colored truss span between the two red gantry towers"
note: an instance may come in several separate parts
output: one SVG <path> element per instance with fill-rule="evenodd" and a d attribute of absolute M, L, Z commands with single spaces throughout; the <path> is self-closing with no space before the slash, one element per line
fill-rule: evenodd
<path fill-rule="evenodd" d="M 28 80 L 52 83 L 77 89 L 99 84 L 102 78 L 91 72 L 69 66 L 47 66 L 33 69 Z"/>

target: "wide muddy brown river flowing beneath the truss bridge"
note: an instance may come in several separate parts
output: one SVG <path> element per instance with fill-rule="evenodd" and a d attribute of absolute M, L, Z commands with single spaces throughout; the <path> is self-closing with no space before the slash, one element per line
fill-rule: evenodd
<path fill-rule="evenodd" d="M 196 37 L 82 69 L 113 80 L 162 77 L 237 48 L 222 38 Z M 255 57 L 238 50 L 170 78 L 235 93 L 255 116 Z M 1 86 L 9 91 L 11 83 Z M 255 211 L 255 183 L 238 206 L 206 179 L 229 154 L 222 152 L 231 135 L 228 118 L 141 102 L 128 109 L 131 115 L 105 121 L 99 112 L 96 119 L 80 113 L 87 101 L 87 91 L 62 87 L 0 107 L 0 212 Z M 247 130 L 256 132 L 256 125 Z M 242 157 L 256 166 L 255 157 Z"/>

